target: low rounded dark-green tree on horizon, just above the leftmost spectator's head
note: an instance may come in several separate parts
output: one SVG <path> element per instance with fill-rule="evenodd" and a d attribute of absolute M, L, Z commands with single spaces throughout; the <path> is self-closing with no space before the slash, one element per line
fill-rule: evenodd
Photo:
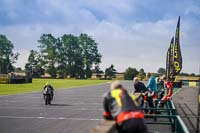
<path fill-rule="evenodd" d="M 124 79 L 125 80 L 132 80 L 134 77 L 138 75 L 138 71 L 136 68 L 129 67 L 126 69 L 124 73 Z"/>

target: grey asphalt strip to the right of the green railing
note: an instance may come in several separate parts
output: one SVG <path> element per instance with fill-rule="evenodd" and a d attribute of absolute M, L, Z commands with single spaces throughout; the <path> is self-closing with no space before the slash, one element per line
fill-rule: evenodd
<path fill-rule="evenodd" d="M 172 98 L 177 113 L 184 121 L 190 133 L 197 133 L 198 90 L 198 87 L 183 86 L 183 88 Z"/>

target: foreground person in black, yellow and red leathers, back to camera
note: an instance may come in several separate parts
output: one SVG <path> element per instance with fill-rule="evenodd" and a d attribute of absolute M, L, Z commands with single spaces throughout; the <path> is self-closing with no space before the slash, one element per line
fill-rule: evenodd
<path fill-rule="evenodd" d="M 147 133 L 144 114 L 135 99 L 119 81 L 113 82 L 110 91 L 104 96 L 103 116 L 116 121 L 119 133 Z"/>

